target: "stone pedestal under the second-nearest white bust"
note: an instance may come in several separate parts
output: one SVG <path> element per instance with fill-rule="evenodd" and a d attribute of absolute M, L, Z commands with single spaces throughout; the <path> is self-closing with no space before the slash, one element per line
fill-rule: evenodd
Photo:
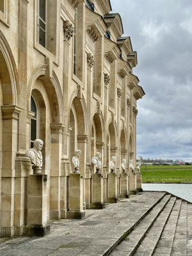
<path fill-rule="evenodd" d="M 83 176 L 80 173 L 72 173 L 69 178 L 69 211 L 68 219 L 83 219 Z"/>

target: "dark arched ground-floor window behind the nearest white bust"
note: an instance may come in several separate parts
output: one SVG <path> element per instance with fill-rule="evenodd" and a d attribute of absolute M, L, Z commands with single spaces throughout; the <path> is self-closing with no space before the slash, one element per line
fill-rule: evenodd
<path fill-rule="evenodd" d="M 35 113 L 31 118 L 31 148 L 33 148 L 33 141 L 37 138 L 37 108 L 33 97 L 31 97 L 31 111 Z"/>

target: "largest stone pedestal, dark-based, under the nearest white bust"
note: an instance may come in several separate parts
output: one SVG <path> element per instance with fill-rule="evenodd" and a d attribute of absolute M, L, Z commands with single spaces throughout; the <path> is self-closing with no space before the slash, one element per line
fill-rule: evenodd
<path fill-rule="evenodd" d="M 45 236 L 47 225 L 47 175 L 30 175 L 28 178 L 28 221 L 24 235 Z"/>

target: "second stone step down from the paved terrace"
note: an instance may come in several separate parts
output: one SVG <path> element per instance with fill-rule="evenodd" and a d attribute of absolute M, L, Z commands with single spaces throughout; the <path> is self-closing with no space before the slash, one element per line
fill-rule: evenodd
<path fill-rule="evenodd" d="M 154 225 L 152 225 L 152 227 L 146 234 L 138 250 L 136 250 L 136 252 L 134 253 L 134 256 L 151 256 L 153 254 L 159 241 L 159 237 L 161 237 L 161 234 L 163 232 L 163 228 L 166 225 L 166 222 L 172 212 L 175 201 L 176 197 L 172 196 L 168 204 L 164 207 L 163 211 L 158 216 L 157 220 L 154 222 Z"/>

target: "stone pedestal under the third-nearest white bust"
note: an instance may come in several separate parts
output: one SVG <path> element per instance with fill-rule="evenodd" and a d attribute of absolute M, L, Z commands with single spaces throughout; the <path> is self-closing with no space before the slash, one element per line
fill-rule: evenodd
<path fill-rule="evenodd" d="M 103 179 L 102 174 L 93 174 L 92 178 L 92 204 L 91 209 L 103 209 L 105 207 L 103 203 Z"/>

